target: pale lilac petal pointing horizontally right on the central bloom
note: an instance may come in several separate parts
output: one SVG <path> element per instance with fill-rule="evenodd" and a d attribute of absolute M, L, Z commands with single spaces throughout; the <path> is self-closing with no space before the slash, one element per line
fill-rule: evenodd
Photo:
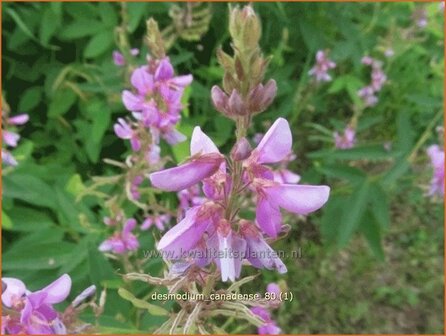
<path fill-rule="evenodd" d="M 330 187 L 281 184 L 266 188 L 268 198 L 287 211 L 306 215 L 320 209 L 328 200 Z"/>

